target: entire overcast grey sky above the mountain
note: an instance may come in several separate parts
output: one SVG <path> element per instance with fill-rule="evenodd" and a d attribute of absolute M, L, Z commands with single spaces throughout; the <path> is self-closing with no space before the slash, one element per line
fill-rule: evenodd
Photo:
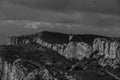
<path fill-rule="evenodd" d="M 0 35 L 6 31 L 7 34 L 26 32 L 22 20 L 77 25 L 71 25 L 70 29 L 54 26 L 52 29 L 57 31 L 102 34 L 105 32 L 117 35 L 120 30 L 120 0 L 0 0 L 0 21 L 3 20 L 17 20 L 22 26 L 17 26 L 16 23 L 14 27 L 2 24 Z"/>

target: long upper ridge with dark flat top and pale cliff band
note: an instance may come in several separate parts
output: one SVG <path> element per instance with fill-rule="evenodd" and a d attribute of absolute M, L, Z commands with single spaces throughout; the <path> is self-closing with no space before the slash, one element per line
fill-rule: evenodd
<path fill-rule="evenodd" d="M 95 51 L 98 51 L 97 55 L 104 55 L 105 58 L 115 59 L 119 57 L 119 39 L 117 38 L 113 38 L 112 40 L 112 38 L 103 36 L 79 35 L 77 36 L 77 40 L 76 35 L 63 35 L 64 34 L 60 33 L 41 32 L 25 36 L 16 36 L 11 42 L 13 45 L 16 43 L 20 45 L 35 42 L 58 52 L 67 59 L 76 58 L 81 60 L 83 58 L 89 58 Z M 58 41 L 56 41 L 57 39 Z"/>

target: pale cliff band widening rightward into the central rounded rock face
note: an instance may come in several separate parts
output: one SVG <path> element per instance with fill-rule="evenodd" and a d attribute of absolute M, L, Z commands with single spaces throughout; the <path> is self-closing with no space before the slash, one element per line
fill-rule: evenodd
<path fill-rule="evenodd" d="M 83 57 L 89 57 L 92 52 L 92 47 L 84 42 L 69 42 L 65 44 L 51 44 L 41 39 L 37 39 L 36 42 L 44 47 L 57 51 L 66 58 L 77 58 L 81 60 Z"/>

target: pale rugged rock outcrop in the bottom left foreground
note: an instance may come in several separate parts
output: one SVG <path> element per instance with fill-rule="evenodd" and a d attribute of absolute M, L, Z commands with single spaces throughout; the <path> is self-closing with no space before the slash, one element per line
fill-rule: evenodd
<path fill-rule="evenodd" d="M 2 66 L 1 80 L 57 80 L 44 66 L 28 60 L 4 61 Z"/>

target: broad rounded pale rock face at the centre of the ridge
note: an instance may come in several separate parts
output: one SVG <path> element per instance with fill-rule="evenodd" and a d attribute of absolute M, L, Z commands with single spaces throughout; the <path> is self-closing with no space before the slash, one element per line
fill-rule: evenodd
<path fill-rule="evenodd" d="M 92 47 L 84 42 L 70 42 L 64 50 L 67 58 L 76 58 L 79 60 L 84 57 L 89 58 L 91 52 Z"/>

